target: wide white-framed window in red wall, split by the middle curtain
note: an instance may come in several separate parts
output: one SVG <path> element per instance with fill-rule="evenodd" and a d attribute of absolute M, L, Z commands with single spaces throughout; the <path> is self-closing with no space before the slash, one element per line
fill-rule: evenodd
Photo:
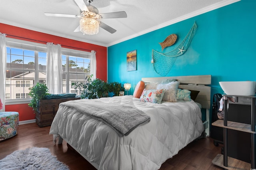
<path fill-rule="evenodd" d="M 29 99 L 30 87 L 46 83 L 46 44 L 10 39 L 6 46 L 6 99 Z M 76 93 L 71 82 L 90 75 L 90 57 L 90 52 L 62 48 L 63 93 Z"/>

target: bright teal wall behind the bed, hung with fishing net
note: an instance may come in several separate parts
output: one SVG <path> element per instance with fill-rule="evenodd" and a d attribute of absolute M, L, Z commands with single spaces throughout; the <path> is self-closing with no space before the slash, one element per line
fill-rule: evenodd
<path fill-rule="evenodd" d="M 223 93 L 219 81 L 256 81 L 255 7 L 255 0 L 241 0 L 108 47 L 108 81 L 131 83 L 132 95 L 142 77 L 160 77 L 151 64 L 152 49 L 162 51 L 159 42 L 177 34 L 177 42 L 163 50 L 172 51 L 194 22 L 198 29 L 190 47 L 166 76 L 212 75 L 212 94 Z M 126 53 L 134 49 L 137 70 L 126 71 Z"/>

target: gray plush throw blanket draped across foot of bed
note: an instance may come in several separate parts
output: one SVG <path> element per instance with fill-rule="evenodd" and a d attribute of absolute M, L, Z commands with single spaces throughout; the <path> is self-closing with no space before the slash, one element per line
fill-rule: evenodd
<path fill-rule="evenodd" d="M 134 107 L 104 103 L 92 99 L 66 101 L 60 105 L 76 109 L 112 127 L 120 137 L 127 136 L 136 127 L 149 123 L 150 117 Z"/>

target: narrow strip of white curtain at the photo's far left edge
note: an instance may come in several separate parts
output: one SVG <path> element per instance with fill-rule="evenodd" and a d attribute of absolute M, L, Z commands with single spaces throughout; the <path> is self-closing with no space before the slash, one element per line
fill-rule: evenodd
<path fill-rule="evenodd" d="M 3 105 L 2 109 L 0 109 L 0 111 L 5 111 L 5 77 L 6 77 L 6 40 L 5 40 L 5 36 L 6 36 L 6 34 L 0 33 L 0 68 L 1 68 L 0 69 L 0 99 L 1 99 L 2 105 Z"/>

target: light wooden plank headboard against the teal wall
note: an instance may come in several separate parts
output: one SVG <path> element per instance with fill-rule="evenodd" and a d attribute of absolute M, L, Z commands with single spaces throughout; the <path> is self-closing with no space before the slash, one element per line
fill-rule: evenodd
<path fill-rule="evenodd" d="M 179 87 L 182 89 L 200 91 L 196 97 L 196 102 L 202 105 L 204 109 L 210 109 L 211 101 L 211 75 L 190 75 L 190 76 L 175 76 L 175 77 L 145 77 L 142 81 L 146 83 L 158 82 L 161 83 L 166 79 L 177 79 L 180 81 Z"/>

